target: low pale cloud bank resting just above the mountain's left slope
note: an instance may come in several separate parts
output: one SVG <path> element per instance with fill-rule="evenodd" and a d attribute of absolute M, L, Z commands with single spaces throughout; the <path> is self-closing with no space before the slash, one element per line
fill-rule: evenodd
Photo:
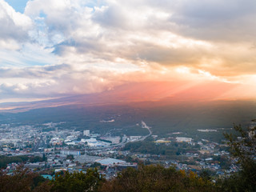
<path fill-rule="evenodd" d="M 76 70 L 72 66 L 0 68 L 0 99 L 50 98 L 107 90 L 120 76 L 111 71 Z"/>

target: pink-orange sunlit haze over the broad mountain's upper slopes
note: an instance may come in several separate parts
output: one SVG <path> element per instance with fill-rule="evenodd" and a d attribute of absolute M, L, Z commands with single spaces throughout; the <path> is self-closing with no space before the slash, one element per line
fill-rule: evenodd
<path fill-rule="evenodd" d="M 1 103 L 1 111 L 22 111 L 65 105 L 118 105 L 130 102 L 210 102 L 225 99 L 223 95 L 236 85 L 226 82 L 134 82 L 98 94 L 81 94 L 39 102 Z"/>

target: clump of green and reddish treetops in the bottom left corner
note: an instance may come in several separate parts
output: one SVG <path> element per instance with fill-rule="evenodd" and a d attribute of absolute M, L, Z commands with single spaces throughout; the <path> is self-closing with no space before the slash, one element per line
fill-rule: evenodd
<path fill-rule="evenodd" d="M 104 181 L 96 169 L 86 174 L 65 171 L 49 181 L 20 166 L 13 175 L 0 172 L 0 192 L 96 192 Z"/>

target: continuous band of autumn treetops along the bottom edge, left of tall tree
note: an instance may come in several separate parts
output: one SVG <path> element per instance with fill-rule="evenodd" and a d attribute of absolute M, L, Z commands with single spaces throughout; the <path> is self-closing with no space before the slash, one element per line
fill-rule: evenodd
<path fill-rule="evenodd" d="M 45 192 L 82 192 L 82 191 L 216 191 L 211 182 L 199 178 L 193 172 L 165 169 L 162 166 L 139 166 L 138 170 L 128 168 L 112 181 L 101 178 L 97 170 L 87 170 L 86 174 L 69 172 L 59 173 L 54 180 L 29 172 L 18 170 L 14 175 L 2 174 L 0 191 L 45 191 Z"/>

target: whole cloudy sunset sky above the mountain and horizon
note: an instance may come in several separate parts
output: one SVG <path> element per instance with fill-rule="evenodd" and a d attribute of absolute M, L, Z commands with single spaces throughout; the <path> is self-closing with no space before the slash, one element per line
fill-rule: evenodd
<path fill-rule="evenodd" d="M 184 81 L 255 99 L 255 18 L 253 0 L 0 0 L 0 102 Z"/>

